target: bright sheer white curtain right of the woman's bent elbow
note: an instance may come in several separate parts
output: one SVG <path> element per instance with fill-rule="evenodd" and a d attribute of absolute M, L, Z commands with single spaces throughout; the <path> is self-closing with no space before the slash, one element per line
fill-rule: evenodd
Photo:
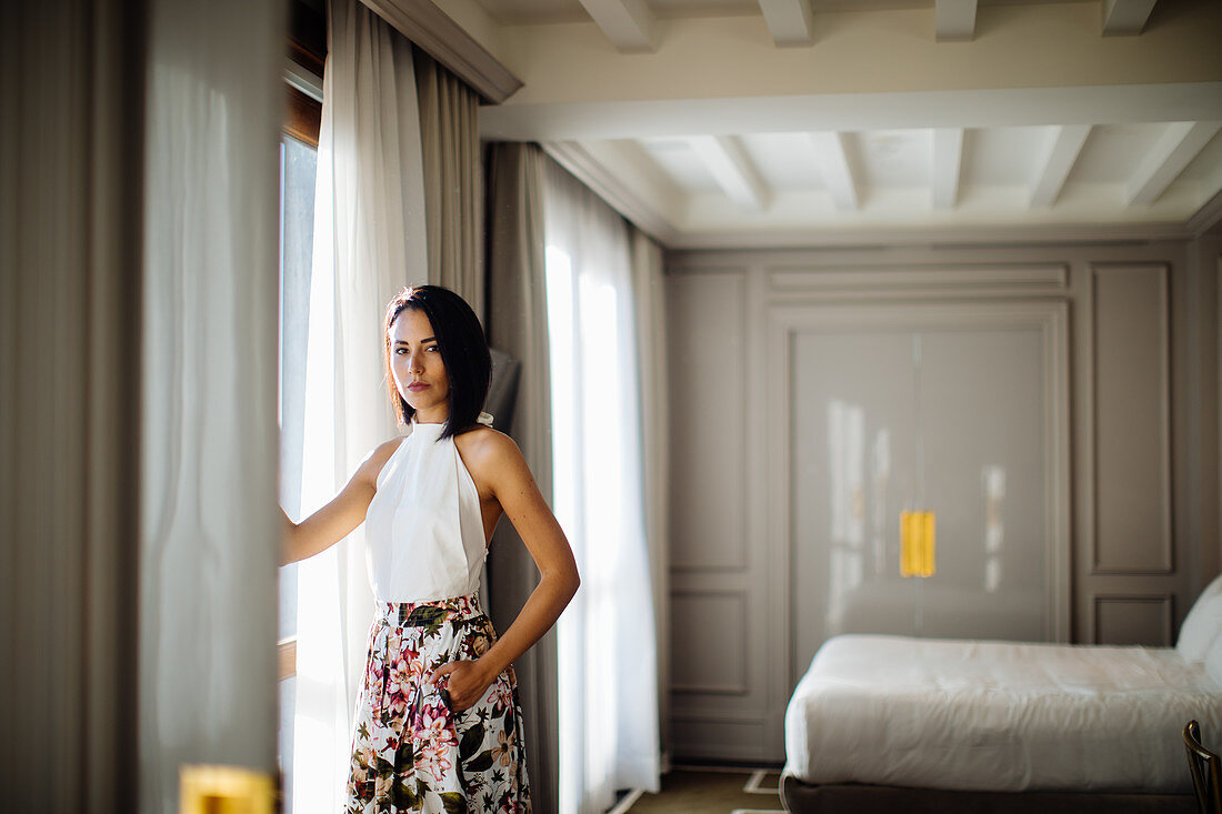
<path fill-rule="evenodd" d="M 657 667 L 629 227 L 565 170 L 544 182 L 554 507 L 582 589 L 558 623 L 560 810 L 656 791 Z"/>

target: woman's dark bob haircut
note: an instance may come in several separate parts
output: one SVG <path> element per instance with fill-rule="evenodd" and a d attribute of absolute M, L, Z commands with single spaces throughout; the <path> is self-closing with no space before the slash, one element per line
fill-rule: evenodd
<path fill-rule="evenodd" d="M 391 297 L 382 323 L 382 346 L 386 357 L 386 385 L 398 423 L 406 425 L 415 411 L 398 394 L 391 369 L 390 329 L 404 309 L 419 310 L 429 318 L 433 335 L 441 351 L 441 363 L 450 378 L 450 416 L 441 438 L 451 438 L 475 425 L 484 408 L 488 387 L 492 381 L 492 356 L 479 318 L 462 297 L 441 286 L 412 286 Z"/>

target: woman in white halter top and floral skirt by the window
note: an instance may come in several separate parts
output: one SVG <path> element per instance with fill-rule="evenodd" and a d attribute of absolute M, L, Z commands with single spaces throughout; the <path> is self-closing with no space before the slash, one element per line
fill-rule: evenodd
<path fill-rule="evenodd" d="M 470 307 L 437 286 L 406 288 L 384 336 L 409 434 L 374 450 L 330 504 L 301 523 L 285 517 L 286 562 L 365 522 L 379 614 L 345 810 L 529 812 L 510 665 L 577 592 L 573 552 L 517 445 L 483 425 L 491 359 Z M 501 515 L 543 578 L 497 639 L 475 592 Z"/>

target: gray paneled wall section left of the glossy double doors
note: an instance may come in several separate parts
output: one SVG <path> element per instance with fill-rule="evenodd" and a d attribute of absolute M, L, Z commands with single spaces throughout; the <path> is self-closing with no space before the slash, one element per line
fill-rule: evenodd
<path fill-rule="evenodd" d="M 755 532 L 765 484 L 749 447 L 764 396 L 750 369 L 741 269 L 666 280 L 671 383 L 671 710 L 676 744 L 703 757 L 763 758 L 772 703 L 761 574 L 769 559 Z M 677 754 L 690 753 L 682 746 Z"/>

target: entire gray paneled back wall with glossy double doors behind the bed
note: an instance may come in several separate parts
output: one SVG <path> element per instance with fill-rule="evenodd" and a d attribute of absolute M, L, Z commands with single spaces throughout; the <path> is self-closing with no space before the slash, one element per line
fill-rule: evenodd
<path fill-rule="evenodd" d="M 837 632 L 1173 644 L 1218 567 L 1216 254 L 1162 242 L 668 255 L 671 752 L 782 760 L 789 693 Z M 831 416 L 837 387 L 864 407 Z M 959 469 L 980 473 L 962 502 Z M 918 493 L 946 529 L 945 565 L 919 587 L 897 565 L 898 508 Z M 959 584 L 970 557 L 954 545 L 1002 504 L 1011 576 Z M 820 530 L 841 527 L 860 533 Z M 855 604 L 830 596 L 846 579 Z"/>

